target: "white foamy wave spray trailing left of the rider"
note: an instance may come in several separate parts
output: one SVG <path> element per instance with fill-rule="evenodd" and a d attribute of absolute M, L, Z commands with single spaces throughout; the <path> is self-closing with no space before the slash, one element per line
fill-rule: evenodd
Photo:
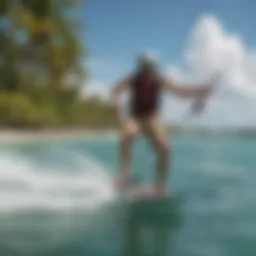
<path fill-rule="evenodd" d="M 113 200 L 110 171 L 99 160 L 68 149 L 61 154 L 61 164 L 44 166 L 18 152 L 0 152 L 0 212 L 91 209 Z"/>

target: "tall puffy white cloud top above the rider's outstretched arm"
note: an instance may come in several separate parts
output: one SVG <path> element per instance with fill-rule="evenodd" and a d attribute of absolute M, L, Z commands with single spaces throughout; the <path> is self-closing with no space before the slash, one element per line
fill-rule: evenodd
<path fill-rule="evenodd" d="M 250 90 L 256 79 L 256 52 L 229 34 L 211 15 L 201 17 L 191 31 L 184 59 L 192 77 L 206 78 L 218 72 L 232 88 Z"/>

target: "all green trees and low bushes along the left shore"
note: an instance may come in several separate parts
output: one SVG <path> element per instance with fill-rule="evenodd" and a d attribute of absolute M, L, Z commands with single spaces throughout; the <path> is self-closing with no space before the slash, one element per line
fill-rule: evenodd
<path fill-rule="evenodd" d="M 81 2 L 0 1 L 0 125 L 117 125 L 106 102 L 78 97 L 86 81 Z"/>

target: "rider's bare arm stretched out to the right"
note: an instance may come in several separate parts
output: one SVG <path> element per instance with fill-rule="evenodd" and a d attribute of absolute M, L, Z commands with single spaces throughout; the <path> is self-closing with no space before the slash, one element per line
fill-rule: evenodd
<path fill-rule="evenodd" d="M 176 83 L 173 79 L 162 78 L 162 86 L 165 90 L 176 94 L 181 98 L 204 98 L 211 91 L 211 86 L 184 86 Z"/>

